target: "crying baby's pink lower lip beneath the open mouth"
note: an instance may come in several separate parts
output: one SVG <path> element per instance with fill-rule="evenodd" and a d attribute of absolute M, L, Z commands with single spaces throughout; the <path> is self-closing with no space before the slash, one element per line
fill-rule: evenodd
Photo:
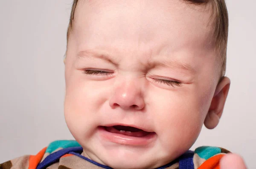
<path fill-rule="evenodd" d="M 98 131 L 101 137 L 105 138 L 110 142 L 124 144 L 124 145 L 132 145 L 132 146 L 146 146 L 152 143 L 156 138 L 155 132 L 151 132 L 148 135 L 143 137 L 134 137 L 134 136 L 122 135 L 119 133 L 108 132 L 103 126 L 99 126 Z"/>

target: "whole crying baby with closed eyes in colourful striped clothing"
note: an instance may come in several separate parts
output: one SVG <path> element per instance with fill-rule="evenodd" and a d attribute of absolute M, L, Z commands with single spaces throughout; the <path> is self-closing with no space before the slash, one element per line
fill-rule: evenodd
<path fill-rule="evenodd" d="M 0 169 L 245 169 L 222 148 L 188 151 L 223 112 L 227 34 L 224 0 L 74 0 L 64 115 L 76 141 Z"/>

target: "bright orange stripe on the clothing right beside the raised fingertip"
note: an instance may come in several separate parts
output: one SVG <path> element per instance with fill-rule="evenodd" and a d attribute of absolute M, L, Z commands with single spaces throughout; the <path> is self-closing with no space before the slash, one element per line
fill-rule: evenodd
<path fill-rule="evenodd" d="M 206 160 L 198 169 L 220 169 L 219 162 L 224 155 L 215 155 Z"/>

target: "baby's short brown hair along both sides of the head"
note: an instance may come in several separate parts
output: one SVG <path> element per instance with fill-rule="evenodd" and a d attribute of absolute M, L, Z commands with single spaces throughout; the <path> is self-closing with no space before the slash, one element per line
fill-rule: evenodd
<path fill-rule="evenodd" d="M 70 22 L 67 29 L 67 41 L 72 31 L 73 20 L 76 11 L 76 6 L 79 0 L 73 0 L 73 6 L 70 14 Z M 226 60 L 227 60 L 227 37 L 228 37 L 228 14 L 225 0 L 180 0 L 185 3 L 191 3 L 194 5 L 206 5 L 211 3 L 212 15 L 214 19 L 214 43 L 215 50 L 218 54 L 221 66 L 221 78 L 224 77 L 226 72 Z"/>

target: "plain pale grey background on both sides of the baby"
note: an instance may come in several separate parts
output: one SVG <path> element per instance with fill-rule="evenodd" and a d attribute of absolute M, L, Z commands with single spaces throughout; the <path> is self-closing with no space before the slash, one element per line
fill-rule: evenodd
<path fill-rule="evenodd" d="M 0 0 L 0 163 L 73 139 L 64 121 L 66 30 L 72 0 Z M 227 0 L 230 93 L 219 126 L 197 146 L 221 146 L 256 168 L 256 1 Z"/>

